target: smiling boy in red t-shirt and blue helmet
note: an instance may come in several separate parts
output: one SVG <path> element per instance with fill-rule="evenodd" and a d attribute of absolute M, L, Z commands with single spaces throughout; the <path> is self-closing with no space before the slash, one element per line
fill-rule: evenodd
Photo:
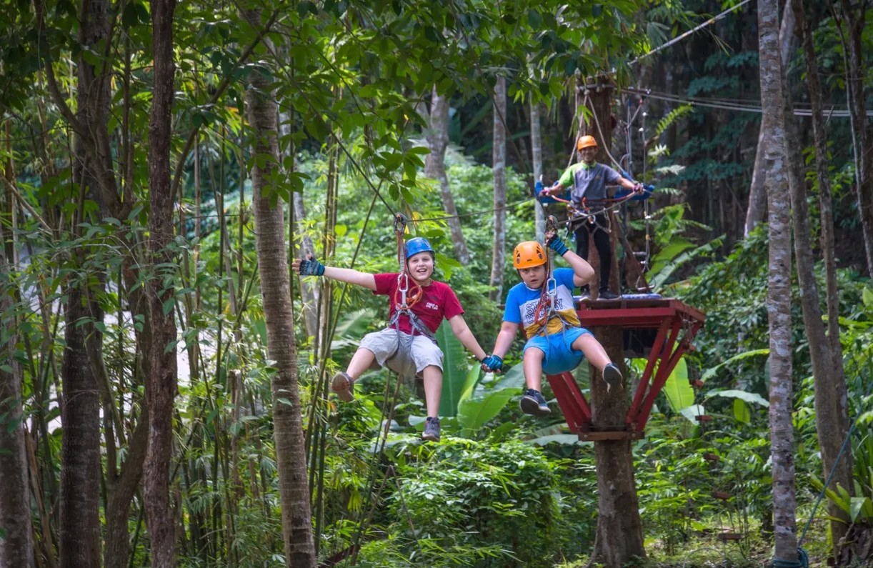
<path fill-rule="evenodd" d="M 464 309 L 449 284 L 431 279 L 435 252 L 427 239 L 416 236 L 406 243 L 406 275 L 370 274 L 347 268 L 325 266 L 314 258 L 295 259 L 294 270 L 301 276 L 324 276 L 357 284 L 376 295 L 388 296 L 390 324 L 381 332 L 368 333 L 349 361 L 345 372 L 333 376 L 331 388 L 340 400 L 354 399 L 354 381 L 374 363 L 388 366 L 403 376 L 421 376 L 428 417 L 422 439 L 439 441 L 439 400 L 443 388 L 443 352 L 436 346 L 434 333 L 449 320 L 451 331 L 476 359 L 490 363 L 485 351 L 464 321 Z M 407 289 L 407 306 L 401 306 L 401 289 Z M 401 352 L 404 350 L 407 352 Z"/>

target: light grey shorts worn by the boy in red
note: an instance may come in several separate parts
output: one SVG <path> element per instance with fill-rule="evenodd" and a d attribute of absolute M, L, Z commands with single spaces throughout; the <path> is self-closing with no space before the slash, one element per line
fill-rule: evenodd
<path fill-rule="evenodd" d="M 401 340 L 399 348 L 398 337 Z M 409 351 L 404 346 L 409 346 Z M 403 377 L 421 376 L 424 367 L 430 365 L 443 370 L 443 352 L 436 343 L 423 335 L 410 336 L 395 329 L 383 329 L 381 332 L 365 335 L 361 339 L 361 348 L 373 352 L 379 366 L 387 366 Z M 388 359 L 392 354 L 394 357 Z"/>

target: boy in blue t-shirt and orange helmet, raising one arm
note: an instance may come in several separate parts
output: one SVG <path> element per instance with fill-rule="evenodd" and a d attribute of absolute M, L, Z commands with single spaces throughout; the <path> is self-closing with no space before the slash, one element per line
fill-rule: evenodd
<path fill-rule="evenodd" d="M 546 232 L 546 243 L 558 256 L 564 257 L 571 268 L 555 269 L 554 281 L 547 281 L 548 258 L 540 243 L 527 241 L 515 247 L 512 265 L 518 270 L 521 282 L 506 296 L 503 325 L 494 342 L 493 354 L 482 365 L 485 371 L 499 371 L 519 324 L 523 325 L 527 343 L 522 365 L 527 390 L 519 406 L 522 412 L 534 416 L 552 412 L 540 393 L 543 372 L 572 371 L 587 358 L 603 374 L 607 390 L 622 385 L 621 371 L 595 336 L 581 326 L 573 302 L 574 287 L 588 284 L 595 275 L 594 269 L 567 249 L 553 231 Z"/>

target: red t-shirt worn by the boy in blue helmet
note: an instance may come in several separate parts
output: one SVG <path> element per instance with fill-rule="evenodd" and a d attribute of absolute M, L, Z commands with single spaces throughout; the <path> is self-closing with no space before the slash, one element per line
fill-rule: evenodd
<path fill-rule="evenodd" d="M 397 276 L 396 272 L 373 275 L 376 281 L 376 289 L 373 293 L 388 296 L 388 305 L 390 305 L 391 310 L 388 314 L 388 320 L 394 317 L 397 304 L 400 302 L 400 293 L 397 291 Z M 410 277 L 407 298 L 410 298 L 410 293 L 414 289 L 415 280 Z M 436 328 L 443 322 L 443 317 L 450 319 L 464 313 L 464 308 L 461 307 L 455 291 L 451 289 L 449 284 L 432 281 L 429 285 L 422 286 L 422 291 L 422 298 L 412 306 L 412 312 L 422 320 L 424 325 L 428 326 L 431 332 L 436 333 Z M 409 318 L 401 316 L 398 323 L 401 332 L 418 335 L 418 333 L 413 333 Z"/>

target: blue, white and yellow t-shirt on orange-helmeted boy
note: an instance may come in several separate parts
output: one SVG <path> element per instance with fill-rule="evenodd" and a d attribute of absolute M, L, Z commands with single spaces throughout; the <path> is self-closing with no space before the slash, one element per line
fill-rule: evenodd
<path fill-rule="evenodd" d="M 552 275 L 556 285 L 554 309 L 560 313 L 564 321 L 574 327 L 581 327 L 579 316 L 573 303 L 574 271 L 570 268 L 555 269 Z M 542 291 L 532 290 L 524 282 L 512 286 L 506 295 L 506 307 L 503 311 L 504 321 L 521 324 L 525 327 L 527 339 L 540 332 L 541 325 L 536 323 L 537 305 L 540 303 Z M 558 333 L 561 330 L 560 319 L 553 316 L 549 319 L 546 333 Z"/>

